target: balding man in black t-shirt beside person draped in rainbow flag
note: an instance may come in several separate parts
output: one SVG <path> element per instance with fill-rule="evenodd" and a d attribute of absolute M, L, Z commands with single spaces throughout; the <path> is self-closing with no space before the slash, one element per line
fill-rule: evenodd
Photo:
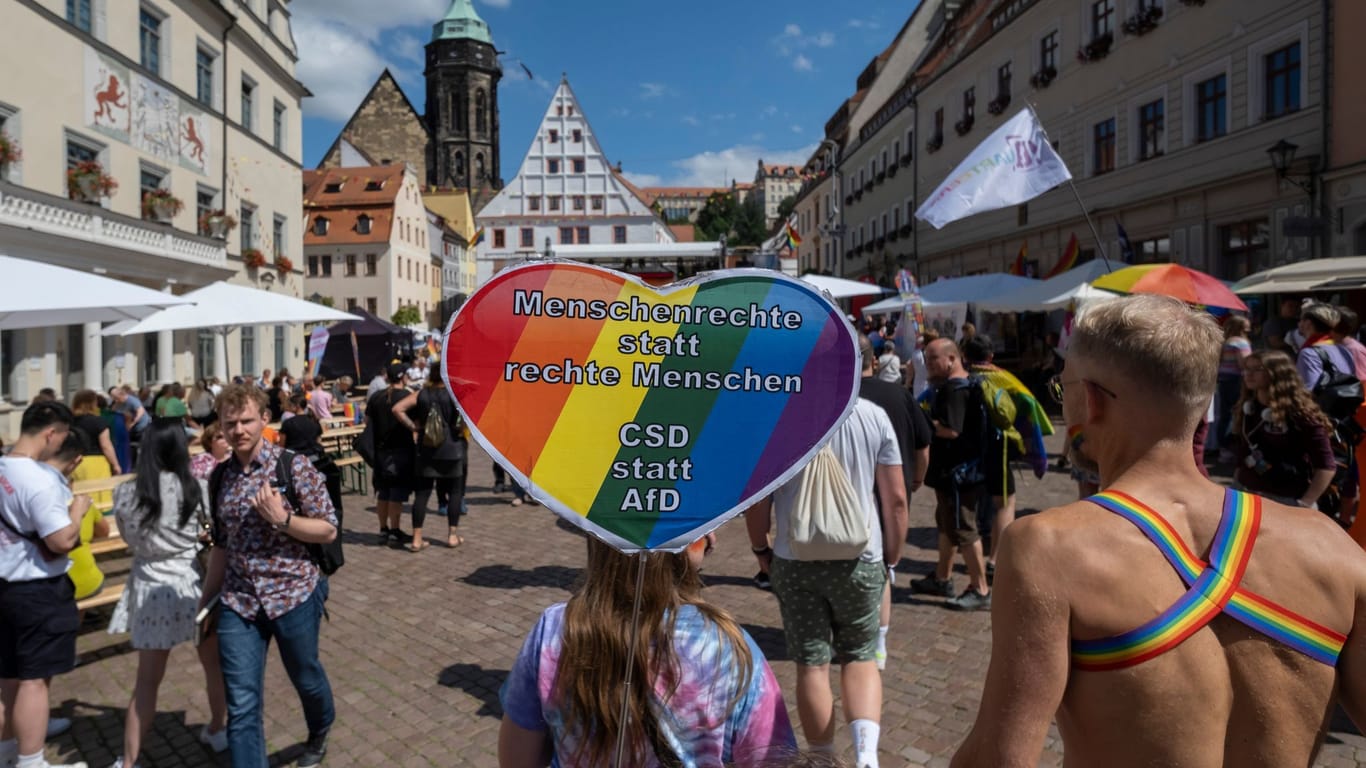
<path fill-rule="evenodd" d="M 963 368 L 962 353 L 951 339 L 925 347 L 925 368 L 934 394 L 930 400 L 930 467 L 925 484 L 934 489 L 934 525 L 938 529 L 938 563 L 933 574 L 911 581 L 911 592 L 949 597 L 959 611 L 989 611 L 992 589 L 977 532 L 977 504 L 986 489 L 984 458 L 990 450 L 990 422 L 982 387 Z M 953 597 L 953 552 L 963 555 L 968 586 Z"/>

